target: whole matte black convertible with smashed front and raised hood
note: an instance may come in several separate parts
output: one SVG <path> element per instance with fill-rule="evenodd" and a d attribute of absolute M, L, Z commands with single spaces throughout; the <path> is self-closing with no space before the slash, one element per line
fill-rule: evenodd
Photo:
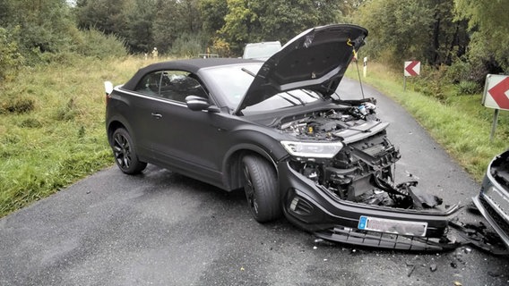
<path fill-rule="evenodd" d="M 459 206 L 394 182 L 400 152 L 375 99 L 335 91 L 367 29 L 308 29 L 265 62 L 154 63 L 107 90 L 106 128 L 122 172 L 147 163 L 227 191 L 255 220 L 281 215 L 327 240 L 441 249 Z"/>

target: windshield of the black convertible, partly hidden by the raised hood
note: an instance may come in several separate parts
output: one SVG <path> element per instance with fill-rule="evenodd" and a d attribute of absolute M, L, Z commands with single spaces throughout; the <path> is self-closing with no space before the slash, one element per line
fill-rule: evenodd
<path fill-rule="evenodd" d="M 224 99 L 230 109 L 235 110 L 237 105 L 246 94 L 247 88 L 255 79 L 254 75 L 260 70 L 263 63 L 246 63 L 241 65 L 228 65 L 203 69 L 201 75 L 203 79 L 213 86 L 219 96 Z M 322 97 L 311 90 L 294 89 L 280 92 L 269 97 L 262 102 L 248 106 L 243 113 L 256 113 L 270 111 L 280 108 L 286 108 L 296 105 L 306 105 Z"/>

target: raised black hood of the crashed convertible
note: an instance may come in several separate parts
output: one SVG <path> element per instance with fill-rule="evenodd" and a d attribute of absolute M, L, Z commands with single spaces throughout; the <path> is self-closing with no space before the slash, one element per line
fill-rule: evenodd
<path fill-rule="evenodd" d="M 255 76 L 235 114 L 280 92 L 297 88 L 330 96 L 338 88 L 367 29 L 332 24 L 307 29 L 272 55 Z"/>

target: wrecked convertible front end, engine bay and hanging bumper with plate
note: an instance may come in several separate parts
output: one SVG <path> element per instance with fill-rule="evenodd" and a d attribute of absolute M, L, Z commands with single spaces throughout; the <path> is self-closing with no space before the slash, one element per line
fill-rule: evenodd
<path fill-rule="evenodd" d="M 419 190 L 417 181 L 395 182 L 400 152 L 386 137 L 388 124 L 376 120 L 369 109 L 375 107 L 306 114 L 281 124 L 281 130 L 298 139 L 343 144 L 332 157 L 289 156 L 279 163 L 287 218 L 327 240 L 442 249 L 439 241 L 459 206 L 445 209 L 442 199 Z"/>

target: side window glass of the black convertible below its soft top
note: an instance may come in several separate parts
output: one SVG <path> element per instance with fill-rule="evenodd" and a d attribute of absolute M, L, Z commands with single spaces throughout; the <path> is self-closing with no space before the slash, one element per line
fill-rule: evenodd
<path fill-rule="evenodd" d="M 134 91 L 146 95 L 185 102 L 185 97 L 208 98 L 194 74 L 186 71 L 155 71 L 145 75 Z"/>

